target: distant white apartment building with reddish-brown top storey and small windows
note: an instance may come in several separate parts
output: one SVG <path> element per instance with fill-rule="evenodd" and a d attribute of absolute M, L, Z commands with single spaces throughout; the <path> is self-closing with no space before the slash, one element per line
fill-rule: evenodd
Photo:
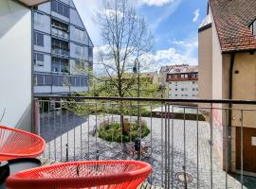
<path fill-rule="evenodd" d="M 168 98 L 196 99 L 198 97 L 198 67 L 175 65 L 166 76 Z"/>

